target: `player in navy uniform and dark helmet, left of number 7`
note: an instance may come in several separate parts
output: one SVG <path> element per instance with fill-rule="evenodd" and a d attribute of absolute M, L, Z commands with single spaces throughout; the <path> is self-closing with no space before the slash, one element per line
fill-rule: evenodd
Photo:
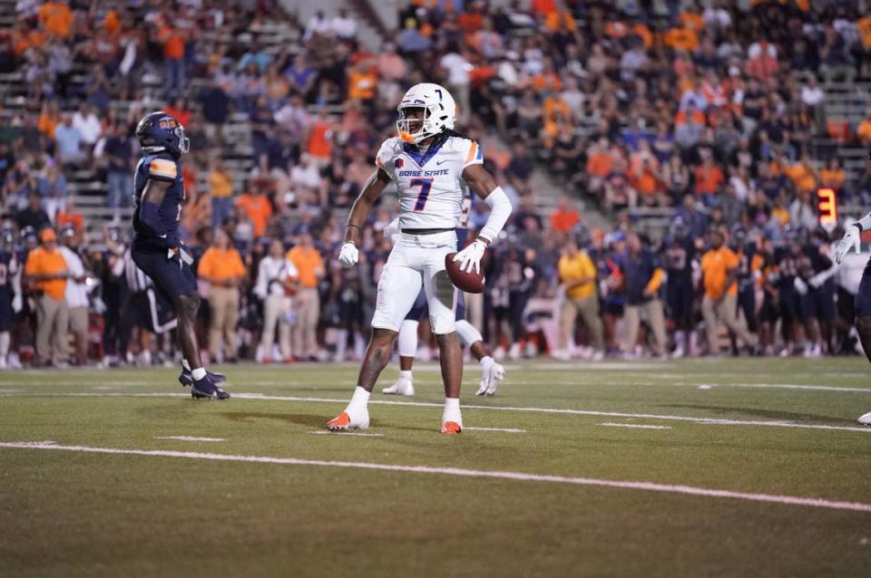
<path fill-rule="evenodd" d="M 163 112 L 142 117 L 136 137 L 145 156 L 133 175 L 133 262 L 172 303 L 178 317 L 181 384 L 191 386 L 194 399 L 226 400 L 230 394 L 218 385 L 224 376 L 206 371 L 200 360 L 194 331 L 200 296 L 191 271 L 193 259 L 181 247 L 178 231 L 184 201 L 180 159 L 188 152 L 190 140 L 184 136 L 184 127 Z"/>

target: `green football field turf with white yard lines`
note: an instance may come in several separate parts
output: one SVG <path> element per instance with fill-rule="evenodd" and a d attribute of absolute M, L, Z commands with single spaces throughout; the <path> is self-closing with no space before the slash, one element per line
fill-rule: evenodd
<path fill-rule="evenodd" d="M 453 437 L 434 364 L 366 435 L 354 365 L 221 369 L 0 374 L 0 575 L 871 573 L 858 358 L 467 365 Z"/>

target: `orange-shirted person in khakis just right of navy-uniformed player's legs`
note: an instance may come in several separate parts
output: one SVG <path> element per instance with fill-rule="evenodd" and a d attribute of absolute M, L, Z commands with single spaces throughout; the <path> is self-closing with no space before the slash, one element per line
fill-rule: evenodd
<path fill-rule="evenodd" d="M 224 359 L 236 361 L 236 323 L 239 321 L 239 287 L 245 279 L 245 265 L 239 251 L 230 244 L 227 232 L 215 229 L 215 238 L 200 259 L 197 275 L 209 283 L 209 353 L 220 359 L 224 338 Z"/>

